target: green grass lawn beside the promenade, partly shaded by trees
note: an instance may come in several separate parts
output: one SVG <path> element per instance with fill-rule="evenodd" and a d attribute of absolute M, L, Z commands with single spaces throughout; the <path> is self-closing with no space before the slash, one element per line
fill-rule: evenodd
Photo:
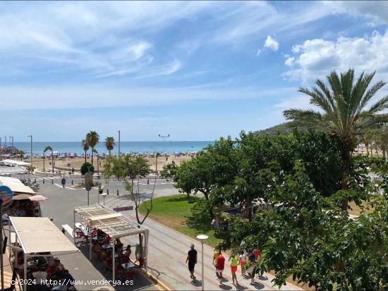
<path fill-rule="evenodd" d="M 214 236 L 210 216 L 200 215 L 200 200 L 198 197 L 190 197 L 188 201 L 185 194 L 155 198 L 149 217 L 189 237 L 205 234 L 209 236 L 207 244 L 216 247 L 223 240 Z M 139 211 L 145 214 L 143 204 Z"/>

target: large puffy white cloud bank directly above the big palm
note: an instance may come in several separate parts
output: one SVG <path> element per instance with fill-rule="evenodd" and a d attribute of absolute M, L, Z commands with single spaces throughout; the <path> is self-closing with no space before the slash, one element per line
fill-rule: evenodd
<path fill-rule="evenodd" d="M 333 69 L 388 71 L 388 31 L 384 35 L 373 32 L 370 37 L 339 37 L 336 41 L 308 39 L 292 50 L 294 67 L 284 73 L 291 80 L 321 78 Z"/>

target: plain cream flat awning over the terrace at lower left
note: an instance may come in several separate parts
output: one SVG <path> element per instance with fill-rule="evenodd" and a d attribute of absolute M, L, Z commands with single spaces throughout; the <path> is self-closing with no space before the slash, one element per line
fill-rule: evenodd
<path fill-rule="evenodd" d="M 11 216 L 11 225 L 25 254 L 73 254 L 79 250 L 47 217 Z"/>

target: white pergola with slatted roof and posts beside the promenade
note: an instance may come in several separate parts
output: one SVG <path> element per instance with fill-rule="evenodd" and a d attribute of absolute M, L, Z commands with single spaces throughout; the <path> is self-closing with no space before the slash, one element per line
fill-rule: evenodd
<path fill-rule="evenodd" d="M 128 237 L 130 235 L 144 235 L 145 243 L 145 268 L 147 270 L 147 255 L 148 255 L 148 237 L 149 230 L 145 226 L 131 221 L 128 217 L 123 216 L 121 213 L 114 211 L 113 209 L 108 208 L 107 206 L 101 204 L 89 205 L 89 206 L 78 206 L 74 208 L 74 229 L 75 229 L 75 213 L 83 221 L 83 225 L 86 226 L 95 226 L 99 230 L 102 230 L 104 233 L 109 235 L 112 240 L 112 261 L 113 261 L 113 280 L 115 280 L 115 248 L 114 241 L 120 237 Z M 89 249 L 89 259 L 92 259 L 92 231 L 88 232 L 90 235 L 90 249 Z"/>

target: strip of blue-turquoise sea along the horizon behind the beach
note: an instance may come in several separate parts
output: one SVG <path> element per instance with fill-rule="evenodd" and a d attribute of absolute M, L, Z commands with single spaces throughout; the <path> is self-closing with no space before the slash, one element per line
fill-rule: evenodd
<path fill-rule="evenodd" d="M 119 142 L 111 151 L 112 154 L 118 154 Z M 197 152 L 206 147 L 208 144 L 214 144 L 210 141 L 195 141 L 195 142 L 120 142 L 121 154 L 151 154 L 159 153 L 183 153 L 183 152 Z M 4 144 L 2 144 L 4 146 Z M 9 144 L 7 144 L 9 145 Z M 25 153 L 30 153 L 30 142 L 14 142 L 13 146 L 16 149 L 23 149 Z M 42 155 L 45 147 L 50 146 L 54 152 L 59 154 L 85 154 L 81 142 L 32 142 L 32 152 L 36 155 Z M 95 147 L 99 154 L 108 153 L 104 142 L 99 142 Z M 88 151 L 90 153 L 90 150 Z M 47 154 L 50 154 L 48 152 Z"/>

